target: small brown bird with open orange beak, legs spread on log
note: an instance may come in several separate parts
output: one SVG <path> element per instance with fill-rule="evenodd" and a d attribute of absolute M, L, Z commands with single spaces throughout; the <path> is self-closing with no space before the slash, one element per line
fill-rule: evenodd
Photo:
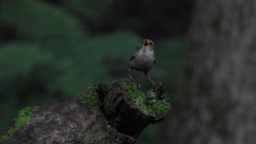
<path fill-rule="evenodd" d="M 129 70 L 130 80 L 135 81 L 131 76 L 131 70 L 138 70 L 144 72 L 147 78 L 153 82 L 149 78 L 149 71 L 155 62 L 156 58 L 154 55 L 154 43 L 152 40 L 144 39 L 142 41 L 142 48 L 136 46 L 136 53 L 131 57 Z M 153 84 L 155 85 L 154 82 Z"/>

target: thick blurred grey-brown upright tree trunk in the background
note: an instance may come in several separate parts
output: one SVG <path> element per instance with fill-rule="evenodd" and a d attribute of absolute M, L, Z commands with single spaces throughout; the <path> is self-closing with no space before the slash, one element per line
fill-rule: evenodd
<path fill-rule="evenodd" d="M 189 38 L 167 139 L 255 144 L 256 1 L 196 0 Z"/>

